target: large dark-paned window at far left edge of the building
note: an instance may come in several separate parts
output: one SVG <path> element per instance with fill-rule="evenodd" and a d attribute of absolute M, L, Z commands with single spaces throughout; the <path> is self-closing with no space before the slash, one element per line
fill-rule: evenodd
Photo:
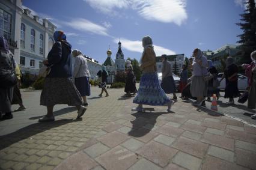
<path fill-rule="evenodd" d="M 0 36 L 8 41 L 11 39 L 11 14 L 0 9 Z"/>

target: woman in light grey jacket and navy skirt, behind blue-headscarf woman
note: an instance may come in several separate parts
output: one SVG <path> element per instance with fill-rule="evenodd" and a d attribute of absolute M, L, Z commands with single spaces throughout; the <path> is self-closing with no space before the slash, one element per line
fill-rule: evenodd
<path fill-rule="evenodd" d="M 87 96 L 91 95 L 91 89 L 89 84 L 90 72 L 88 70 L 87 59 L 82 55 L 80 50 L 72 51 L 73 57 L 75 57 L 73 77 L 75 77 L 75 85 L 81 94 L 84 102 L 84 106 L 88 106 Z"/>

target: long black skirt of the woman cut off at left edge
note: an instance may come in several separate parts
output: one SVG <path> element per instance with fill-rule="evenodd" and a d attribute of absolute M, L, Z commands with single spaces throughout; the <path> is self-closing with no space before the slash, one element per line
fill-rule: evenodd
<path fill-rule="evenodd" d="M 13 87 L 0 88 L 0 112 L 11 112 L 11 100 L 13 99 Z"/>

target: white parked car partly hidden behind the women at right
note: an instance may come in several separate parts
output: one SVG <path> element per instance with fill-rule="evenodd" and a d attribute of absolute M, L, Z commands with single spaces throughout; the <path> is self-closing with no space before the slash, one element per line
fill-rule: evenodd
<path fill-rule="evenodd" d="M 221 80 L 221 77 L 224 73 L 218 74 L 218 80 Z M 242 74 L 237 74 L 238 76 L 238 90 L 246 90 L 248 86 L 248 77 L 243 76 Z M 219 86 L 219 89 L 225 89 L 226 87 L 226 80 L 225 78 L 221 81 L 221 85 Z"/>

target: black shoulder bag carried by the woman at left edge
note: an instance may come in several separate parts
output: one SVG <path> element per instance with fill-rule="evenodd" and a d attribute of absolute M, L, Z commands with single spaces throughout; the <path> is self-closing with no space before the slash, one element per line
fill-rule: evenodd
<path fill-rule="evenodd" d="M 17 84 L 17 77 L 15 75 L 15 66 L 13 56 L 11 58 L 13 60 L 13 69 L 7 70 L 2 69 L 0 71 L 0 87 L 1 88 L 10 88 L 14 87 Z"/>

